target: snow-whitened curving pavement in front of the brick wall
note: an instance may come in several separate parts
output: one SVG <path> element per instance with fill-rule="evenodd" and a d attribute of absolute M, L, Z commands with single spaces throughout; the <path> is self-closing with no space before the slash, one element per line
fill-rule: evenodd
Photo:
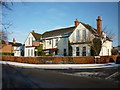
<path fill-rule="evenodd" d="M 111 68 L 120 67 L 120 64 L 27 64 L 10 61 L 0 61 L 1 64 L 9 64 L 18 67 L 41 68 L 41 69 L 86 69 L 86 68 Z"/>

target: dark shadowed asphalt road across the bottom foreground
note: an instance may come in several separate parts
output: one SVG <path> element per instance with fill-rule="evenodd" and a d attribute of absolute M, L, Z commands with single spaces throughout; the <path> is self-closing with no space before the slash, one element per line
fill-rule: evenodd
<path fill-rule="evenodd" d="M 85 78 L 61 72 L 2 65 L 2 88 L 118 88 L 111 80 Z"/>

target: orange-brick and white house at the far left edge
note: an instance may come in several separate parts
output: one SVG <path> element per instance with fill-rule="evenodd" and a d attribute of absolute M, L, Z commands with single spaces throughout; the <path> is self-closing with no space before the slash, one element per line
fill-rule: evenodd
<path fill-rule="evenodd" d="M 12 56 L 23 56 L 23 45 L 21 43 L 17 43 L 15 39 L 13 42 L 2 40 L 0 53 L 2 55 L 12 55 Z"/>

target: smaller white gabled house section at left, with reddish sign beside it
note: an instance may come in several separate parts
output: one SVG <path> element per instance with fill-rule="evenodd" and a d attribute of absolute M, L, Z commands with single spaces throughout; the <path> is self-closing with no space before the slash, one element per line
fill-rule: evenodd
<path fill-rule="evenodd" d="M 25 50 L 24 56 L 39 56 L 41 54 L 40 47 L 42 46 L 41 34 L 36 33 L 34 30 L 29 33 L 24 42 Z"/>

